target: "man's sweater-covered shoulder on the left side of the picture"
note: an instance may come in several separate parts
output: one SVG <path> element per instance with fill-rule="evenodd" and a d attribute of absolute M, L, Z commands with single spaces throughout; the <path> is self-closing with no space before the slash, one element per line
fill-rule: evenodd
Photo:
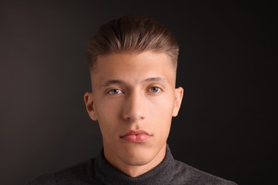
<path fill-rule="evenodd" d="M 93 179 L 93 165 L 95 159 L 69 166 L 53 173 L 36 176 L 27 185 L 46 184 L 91 184 Z"/>

